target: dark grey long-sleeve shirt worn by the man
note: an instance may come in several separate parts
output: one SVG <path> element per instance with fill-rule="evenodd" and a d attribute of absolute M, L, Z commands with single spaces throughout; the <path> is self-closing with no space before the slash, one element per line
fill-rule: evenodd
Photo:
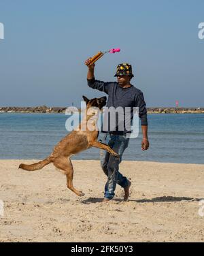
<path fill-rule="evenodd" d="M 108 95 L 107 99 L 107 108 L 114 107 L 122 107 L 123 109 L 126 107 L 130 107 L 131 114 L 124 116 L 124 118 L 129 119 L 127 123 L 131 123 L 133 120 L 133 107 L 139 108 L 139 118 L 141 119 L 141 125 L 148 125 L 148 118 L 147 118 L 147 110 L 146 110 L 146 102 L 143 98 L 143 93 L 137 89 L 135 86 L 131 85 L 128 88 L 122 88 L 118 82 L 103 82 L 99 80 L 95 80 L 95 78 L 88 80 L 88 86 L 92 89 L 97 89 L 99 91 L 103 91 Z M 125 114 L 125 110 L 124 110 Z M 110 118 L 108 119 L 110 122 Z M 104 123 L 104 119 L 103 119 Z M 112 129 L 108 125 L 106 129 L 102 129 L 103 132 L 108 133 L 117 133 L 117 134 L 124 134 L 131 132 L 130 130 L 126 129 L 124 125 L 123 131 L 116 125 L 116 129 Z"/>

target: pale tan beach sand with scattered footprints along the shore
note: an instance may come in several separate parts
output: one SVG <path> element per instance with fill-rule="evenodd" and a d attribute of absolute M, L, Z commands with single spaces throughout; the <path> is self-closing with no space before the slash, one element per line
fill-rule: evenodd
<path fill-rule="evenodd" d="M 67 189 L 52 164 L 26 172 L 18 170 L 21 162 L 35 160 L 0 160 L 1 242 L 204 240 L 204 165 L 123 161 L 129 202 L 117 186 L 114 200 L 101 204 L 106 177 L 99 161 L 73 161 L 74 185 L 84 197 Z"/>

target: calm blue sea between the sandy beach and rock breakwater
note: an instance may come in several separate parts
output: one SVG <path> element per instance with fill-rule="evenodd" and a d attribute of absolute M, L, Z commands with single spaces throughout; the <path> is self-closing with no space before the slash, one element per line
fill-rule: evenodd
<path fill-rule="evenodd" d="M 0 159 L 44 159 L 67 133 L 65 114 L 0 113 Z M 99 133 L 99 139 L 103 133 Z M 204 163 L 204 114 L 148 114 L 150 148 L 139 136 L 129 142 L 123 160 Z M 72 159 L 99 160 L 90 148 Z"/>

